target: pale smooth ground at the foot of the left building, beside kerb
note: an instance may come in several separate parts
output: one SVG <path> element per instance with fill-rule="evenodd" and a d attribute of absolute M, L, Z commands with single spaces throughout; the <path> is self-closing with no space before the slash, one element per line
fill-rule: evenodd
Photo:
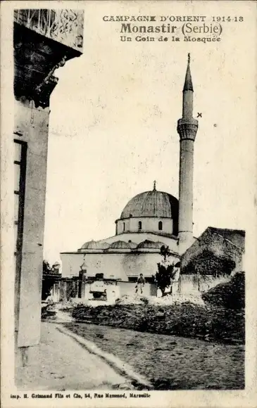
<path fill-rule="evenodd" d="M 25 390 L 94 390 L 118 388 L 127 379 L 89 353 L 56 324 L 42 323 L 42 340 L 29 366 L 16 368 L 16 384 Z"/>

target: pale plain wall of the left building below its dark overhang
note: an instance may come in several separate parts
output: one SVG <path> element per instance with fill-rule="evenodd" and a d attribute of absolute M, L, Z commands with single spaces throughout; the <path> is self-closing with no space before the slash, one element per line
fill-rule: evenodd
<path fill-rule="evenodd" d="M 15 101 L 14 119 L 15 330 L 18 346 L 26 347 L 37 344 L 40 336 L 49 108 L 35 108 L 26 100 Z M 18 165 L 19 161 L 22 165 Z"/>

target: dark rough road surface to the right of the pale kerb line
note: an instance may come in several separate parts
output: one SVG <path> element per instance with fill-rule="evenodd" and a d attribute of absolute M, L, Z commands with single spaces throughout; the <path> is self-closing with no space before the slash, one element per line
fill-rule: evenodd
<path fill-rule="evenodd" d="M 144 375 L 155 390 L 244 388 L 244 346 L 67 323 L 65 326 Z"/>

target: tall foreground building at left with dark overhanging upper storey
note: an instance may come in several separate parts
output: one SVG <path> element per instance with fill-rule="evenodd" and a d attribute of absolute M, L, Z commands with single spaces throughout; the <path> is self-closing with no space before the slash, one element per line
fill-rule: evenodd
<path fill-rule="evenodd" d="M 15 344 L 24 357 L 40 338 L 49 98 L 56 68 L 82 54 L 84 15 L 24 9 L 13 17 Z"/>

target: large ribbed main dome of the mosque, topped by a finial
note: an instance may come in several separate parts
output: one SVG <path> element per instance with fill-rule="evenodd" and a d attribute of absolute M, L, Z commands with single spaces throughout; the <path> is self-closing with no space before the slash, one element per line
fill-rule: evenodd
<path fill-rule="evenodd" d="M 134 196 L 125 206 L 120 219 L 130 217 L 176 218 L 177 212 L 177 198 L 153 188 L 152 191 L 145 191 Z"/>

